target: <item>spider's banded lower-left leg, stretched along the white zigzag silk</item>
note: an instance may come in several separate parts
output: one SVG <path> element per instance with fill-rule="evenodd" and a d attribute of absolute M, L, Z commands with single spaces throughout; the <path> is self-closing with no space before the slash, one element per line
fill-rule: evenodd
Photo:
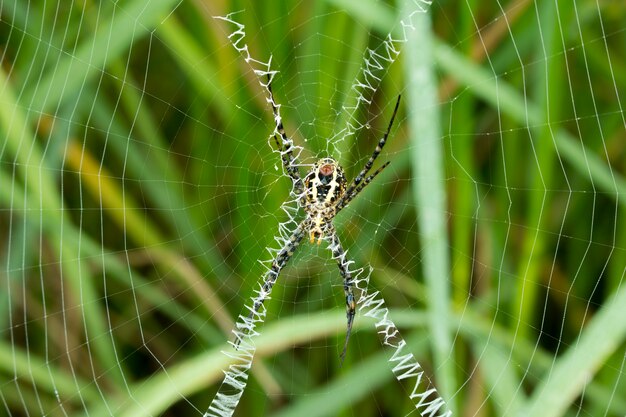
<path fill-rule="evenodd" d="M 285 245 L 278 251 L 276 257 L 272 261 L 272 266 L 263 276 L 263 284 L 261 285 L 261 290 L 258 295 L 253 298 L 252 307 L 250 308 L 250 313 L 248 314 L 248 319 L 252 319 L 261 309 L 265 300 L 267 300 L 272 292 L 272 288 L 274 284 L 276 284 L 276 280 L 278 279 L 278 275 L 280 271 L 287 265 L 287 262 L 293 256 L 295 250 L 298 248 L 298 245 L 304 238 L 305 231 L 308 229 L 307 220 L 304 220 L 302 223 L 298 225 L 296 230 L 289 236 L 289 239 L 285 242 Z M 247 334 L 247 331 L 244 330 L 244 334 Z M 239 347 L 241 343 L 241 337 L 237 337 L 235 340 L 235 349 Z"/>

